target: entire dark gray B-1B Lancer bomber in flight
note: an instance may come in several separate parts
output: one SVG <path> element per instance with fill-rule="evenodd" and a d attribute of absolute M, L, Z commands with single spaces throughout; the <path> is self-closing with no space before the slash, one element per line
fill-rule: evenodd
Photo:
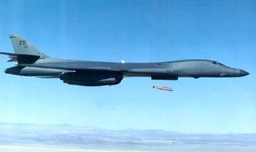
<path fill-rule="evenodd" d="M 11 34 L 14 53 L 8 62 L 18 62 L 5 73 L 39 78 L 57 78 L 67 84 L 102 86 L 119 84 L 126 77 L 149 77 L 157 80 L 177 80 L 180 77 L 243 77 L 249 73 L 222 63 L 204 59 L 189 59 L 158 63 L 112 63 L 75 61 L 51 58 L 28 40 Z"/>

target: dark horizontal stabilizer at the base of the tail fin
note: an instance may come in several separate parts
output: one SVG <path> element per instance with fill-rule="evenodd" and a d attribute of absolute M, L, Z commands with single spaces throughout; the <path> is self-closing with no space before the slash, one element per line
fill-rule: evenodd
<path fill-rule="evenodd" d="M 15 62 L 17 61 L 19 64 L 20 63 L 35 63 L 39 58 L 40 56 L 38 55 L 29 55 L 29 54 L 19 54 L 19 53 L 3 53 L 3 52 L 0 52 L 0 54 L 3 54 L 3 55 L 8 55 L 9 59 L 8 62 Z"/>

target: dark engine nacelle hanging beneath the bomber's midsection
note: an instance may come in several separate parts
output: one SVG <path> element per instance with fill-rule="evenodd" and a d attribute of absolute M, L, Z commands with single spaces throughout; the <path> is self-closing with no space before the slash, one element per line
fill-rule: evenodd
<path fill-rule="evenodd" d="M 115 85 L 122 81 L 123 74 L 105 72 L 74 72 L 60 74 L 60 79 L 67 84 L 83 86 Z"/>

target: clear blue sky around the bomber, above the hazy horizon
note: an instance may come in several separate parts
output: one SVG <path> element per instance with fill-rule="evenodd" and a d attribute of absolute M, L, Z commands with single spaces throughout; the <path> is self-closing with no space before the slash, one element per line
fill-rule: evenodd
<path fill-rule="evenodd" d="M 55 58 L 201 58 L 250 73 L 232 79 L 127 78 L 111 87 L 81 87 L 0 72 L 0 122 L 256 133 L 254 0 L 0 0 L 0 18 L 0 50 L 7 52 L 13 52 L 8 35 L 16 33 Z M 7 60 L 0 57 L 1 71 L 14 66 Z"/>

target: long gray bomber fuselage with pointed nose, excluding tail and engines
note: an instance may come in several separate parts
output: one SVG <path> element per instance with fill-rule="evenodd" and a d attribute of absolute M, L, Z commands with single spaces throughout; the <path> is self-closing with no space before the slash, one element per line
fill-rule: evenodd
<path fill-rule="evenodd" d="M 29 67 L 8 68 L 6 73 L 36 76 L 42 78 L 59 78 L 61 73 L 76 69 L 101 69 L 122 72 L 124 77 L 241 77 L 248 75 L 242 69 L 230 68 L 212 60 L 191 59 L 159 63 L 111 63 L 73 61 L 54 58 L 39 59 Z"/>

